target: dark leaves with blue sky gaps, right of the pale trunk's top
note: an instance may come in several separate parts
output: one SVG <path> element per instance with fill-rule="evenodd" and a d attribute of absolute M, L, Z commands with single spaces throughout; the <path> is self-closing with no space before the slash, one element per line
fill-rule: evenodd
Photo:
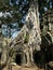
<path fill-rule="evenodd" d="M 45 9 L 47 10 L 51 9 L 51 5 L 53 4 L 52 0 L 38 0 L 38 3 L 39 3 L 39 12 L 40 12 L 41 17 L 42 17 L 42 14 L 45 13 Z M 50 3 L 52 3 L 52 4 L 50 4 Z M 52 8 L 53 8 L 53 5 L 52 5 Z"/>

